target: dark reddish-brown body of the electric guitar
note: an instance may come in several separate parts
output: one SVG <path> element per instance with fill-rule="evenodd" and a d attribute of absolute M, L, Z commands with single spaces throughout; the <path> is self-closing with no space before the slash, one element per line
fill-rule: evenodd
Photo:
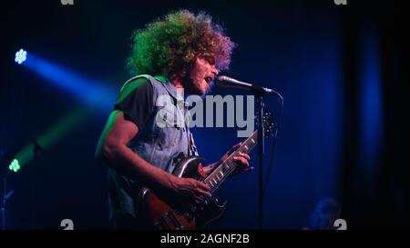
<path fill-rule="evenodd" d="M 200 173 L 202 158 L 188 156 L 179 159 L 172 174 L 202 181 Z M 204 229 L 218 220 L 225 211 L 226 203 L 218 203 L 212 196 L 202 204 L 184 203 L 169 195 L 160 195 L 144 188 L 142 190 L 142 215 L 149 225 L 161 230 Z"/>

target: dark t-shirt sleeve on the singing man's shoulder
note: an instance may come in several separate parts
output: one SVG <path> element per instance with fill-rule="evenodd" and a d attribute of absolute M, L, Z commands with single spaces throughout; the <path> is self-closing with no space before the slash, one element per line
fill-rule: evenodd
<path fill-rule="evenodd" d="M 125 84 L 114 105 L 114 109 L 122 111 L 126 120 L 136 124 L 139 130 L 149 121 L 153 107 L 153 86 L 146 78 Z"/>

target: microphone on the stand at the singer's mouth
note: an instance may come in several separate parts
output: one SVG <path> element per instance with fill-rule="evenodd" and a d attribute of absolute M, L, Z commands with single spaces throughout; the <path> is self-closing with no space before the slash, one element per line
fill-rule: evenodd
<path fill-rule="evenodd" d="M 245 90 L 245 91 L 251 91 L 256 94 L 276 94 L 279 97 L 282 98 L 282 95 L 279 94 L 278 92 L 270 89 L 270 88 L 265 88 L 265 87 L 259 87 L 255 86 L 253 84 L 241 82 L 239 80 L 233 79 L 229 76 L 226 75 L 220 75 L 217 78 L 218 80 L 216 81 L 216 85 L 218 87 L 222 88 L 233 88 L 233 89 L 239 89 L 239 90 Z"/>

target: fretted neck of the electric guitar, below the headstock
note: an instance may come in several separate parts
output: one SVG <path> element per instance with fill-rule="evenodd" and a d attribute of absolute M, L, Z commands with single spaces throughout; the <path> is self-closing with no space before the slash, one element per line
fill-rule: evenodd
<path fill-rule="evenodd" d="M 258 131 L 251 134 L 251 136 L 246 139 L 235 152 L 233 152 L 223 163 L 218 165 L 207 178 L 205 178 L 204 183 L 210 186 L 211 193 L 215 192 L 220 184 L 222 184 L 223 181 L 236 170 L 238 164 L 233 161 L 233 157 L 237 156 L 240 152 L 242 154 L 251 153 L 251 150 L 256 144 L 258 144 Z"/>

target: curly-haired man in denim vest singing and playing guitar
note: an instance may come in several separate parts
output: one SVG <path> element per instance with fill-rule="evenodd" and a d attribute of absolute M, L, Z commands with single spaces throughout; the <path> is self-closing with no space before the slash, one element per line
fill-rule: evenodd
<path fill-rule="evenodd" d="M 139 216 L 142 187 L 200 203 L 210 187 L 172 173 L 179 154 L 197 154 L 189 125 L 159 126 L 164 106 L 159 98 L 172 99 L 170 113 L 181 114 L 180 92 L 204 95 L 220 70 L 227 69 L 235 44 L 209 15 L 181 10 L 152 22 L 132 35 L 128 69 L 138 74 L 123 85 L 114 110 L 97 144 L 97 158 L 109 165 L 110 222 L 114 228 L 145 228 Z M 182 98 L 183 100 L 183 98 Z M 182 107 L 187 113 L 187 106 Z M 224 154 L 225 160 L 239 144 Z M 251 170 L 248 154 L 234 157 L 241 172 Z M 203 167 L 209 174 L 215 164 Z"/>

